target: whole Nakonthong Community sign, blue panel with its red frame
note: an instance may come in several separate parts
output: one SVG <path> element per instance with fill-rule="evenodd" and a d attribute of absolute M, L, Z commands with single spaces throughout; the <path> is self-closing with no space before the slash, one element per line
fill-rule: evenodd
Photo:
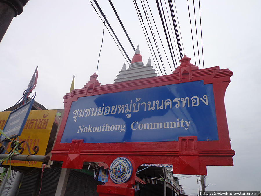
<path fill-rule="evenodd" d="M 190 60 L 184 56 L 170 75 L 108 85 L 94 73 L 64 96 L 51 159 L 81 169 L 85 161 L 110 166 L 123 157 L 133 171 L 146 163 L 171 164 L 174 173 L 191 175 L 206 175 L 208 165 L 233 166 L 224 105 L 233 73 L 198 69 Z M 127 163 L 117 164 L 124 176 Z M 135 175 L 126 183 L 135 184 Z"/>

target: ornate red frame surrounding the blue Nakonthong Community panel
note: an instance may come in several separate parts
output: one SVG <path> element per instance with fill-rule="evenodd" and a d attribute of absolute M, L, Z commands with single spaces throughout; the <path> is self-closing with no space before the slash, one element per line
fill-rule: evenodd
<path fill-rule="evenodd" d="M 64 96 L 65 113 L 51 159 L 63 161 L 62 168 L 81 169 L 85 161 L 104 162 L 110 166 L 115 158 L 126 157 L 132 162 L 133 171 L 144 163 L 161 163 L 172 164 L 175 174 L 190 175 L 207 175 L 206 166 L 233 166 L 232 157 L 235 151 L 230 146 L 224 104 L 225 91 L 233 73 L 228 69 L 220 70 L 218 66 L 198 69 L 190 60 L 191 58 L 184 56 L 180 60 L 181 65 L 171 75 L 102 86 L 96 79 L 98 75 L 94 73 L 82 89 L 75 89 Z M 73 140 L 71 143 L 60 143 L 70 106 L 79 97 L 199 80 L 203 80 L 204 84 L 213 84 L 219 138 L 217 141 L 197 141 L 197 137 L 192 136 L 179 137 L 179 141 L 173 142 L 83 143 L 83 140 Z M 110 183 L 112 181 L 109 179 L 107 185 Z M 135 175 L 127 183 L 135 184 Z"/>

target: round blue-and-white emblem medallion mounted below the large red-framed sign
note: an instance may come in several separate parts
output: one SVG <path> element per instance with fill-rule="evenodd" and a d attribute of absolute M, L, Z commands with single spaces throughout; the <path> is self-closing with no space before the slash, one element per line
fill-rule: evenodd
<path fill-rule="evenodd" d="M 110 179 L 117 184 L 124 183 L 130 179 L 132 174 L 131 161 L 125 157 L 118 157 L 110 164 Z"/>

